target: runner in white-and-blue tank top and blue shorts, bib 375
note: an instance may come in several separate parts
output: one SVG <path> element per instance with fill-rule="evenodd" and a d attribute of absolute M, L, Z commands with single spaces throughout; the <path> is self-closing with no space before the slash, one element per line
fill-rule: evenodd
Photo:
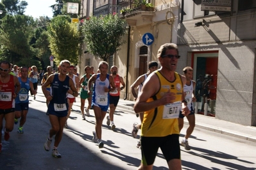
<path fill-rule="evenodd" d="M 101 125 L 105 118 L 105 115 L 109 106 L 109 92 L 115 90 L 115 82 L 108 72 L 108 63 L 101 61 L 99 63 L 98 74 L 92 75 L 88 82 L 88 95 L 92 95 L 92 83 L 94 82 L 94 90 L 92 95 L 92 107 L 96 118 L 95 131 L 92 132 L 94 135 L 92 141 L 98 143 L 99 148 L 103 148 L 104 144 L 101 140 Z M 110 88 L 111 87 L 113 88 Z"/>

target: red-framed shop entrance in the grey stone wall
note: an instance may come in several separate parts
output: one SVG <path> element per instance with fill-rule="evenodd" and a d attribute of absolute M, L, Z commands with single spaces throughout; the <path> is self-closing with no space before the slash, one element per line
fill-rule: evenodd
<path fill-rule="evenodd" d="M 196 112 L 215 116 L 218 77 L 218 52 L 192 54 L 196 81 Z"/>

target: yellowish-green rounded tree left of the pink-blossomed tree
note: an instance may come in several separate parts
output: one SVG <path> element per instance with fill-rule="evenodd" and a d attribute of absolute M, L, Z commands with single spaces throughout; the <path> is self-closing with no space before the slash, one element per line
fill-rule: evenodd
<path fill-rule="evenodd" d="M 69 59 L 73 64 L 78 63 L 81 38 L 78 26 L 71 23 L 71 18 L 65 15 L 54 17 L 48 31 L 49 47 L 55 56 L 55 62 L 60 63 L 63 59 Z"/>

